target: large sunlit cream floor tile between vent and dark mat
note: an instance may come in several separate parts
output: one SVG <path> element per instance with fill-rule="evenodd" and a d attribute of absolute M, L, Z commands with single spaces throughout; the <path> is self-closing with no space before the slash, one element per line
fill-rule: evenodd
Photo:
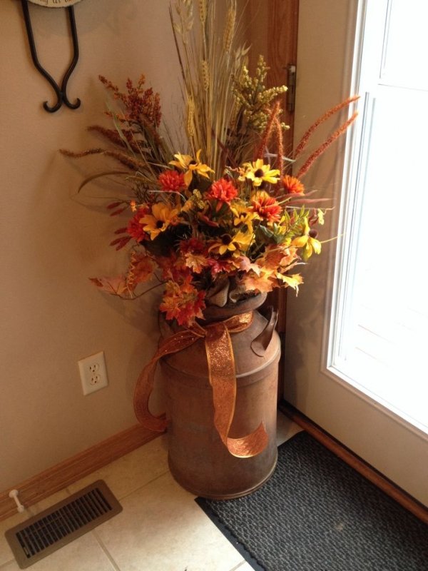
<path fill-rule="evenodd" d="M 96 530 L 121 571 L 230 571 L 243 557 L 167 473 Z"/>

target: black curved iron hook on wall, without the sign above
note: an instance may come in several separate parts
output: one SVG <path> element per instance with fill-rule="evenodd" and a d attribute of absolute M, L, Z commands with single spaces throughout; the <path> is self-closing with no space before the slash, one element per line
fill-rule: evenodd
<path fill-rule="evenodd" d="M 46 69 L 44 69 L 41 66 L 39 58 L 37 57 L 36 44 L 34 43 L 34 34 L 33 34 L 33 29 L 31 27 L 28 0 L 21 0 L 21 4 L 22 4 L 22 10 L 24 12 L 26 31 L 27 31 L 27 35 L 29 36 L 31 58 L 33 59 L 34 65 L 36 66 L 36 69 L 40 71 L 41 75 L 44 76 L 49 81 L 51 86 L 54 88 L 54 91 L 56 93 L 56 97 L 58 99 L 56 101 L 55 105 L 51 106 L 51 107 L 48 105 L 47 101 L 44 101 L 44 104 L 43 104 L 44 108 L 46 109 L 46 111 L 49 111 L 49 113 L 54 113 L 55 111 L 58 111 L 58 109 L 64 103 L 64 105 L 66 105 L 70 109 L 77 109 L 78 107 L 80 107 L 81 100 L 79 98 L 77 98 L 76 103 L 71 103 L 68 100 L 67 93 L 66 93 L 68 79 L 70 79 L 70 76 L 73 73 L 73 69 L 76 67 L 76 64 L 78 61 L 78 41 L 77 41 L 76 19 L 74 18 L 73 6 L 68 6 L 68 8 L 66 8 L 66 10 L 68 11 L 68 19 L 70 21 L 71 36 L 73 38 L 73 61 L 71 61 L 71 64 L 68 67 L 68 70 L 66 71 L 66 74 L 64 74 L 64 76 L 63 76 L 63 80 L 62 80 L 61 88 L 60 88 L 58 86 L 58 84 L 56 83 L 56 81 L 54 80 L 54 78 L 46 71 Z"/>

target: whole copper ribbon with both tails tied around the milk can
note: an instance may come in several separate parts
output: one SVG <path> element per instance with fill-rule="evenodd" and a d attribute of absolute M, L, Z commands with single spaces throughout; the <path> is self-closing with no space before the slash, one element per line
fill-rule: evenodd
<path fill-rule="evenodd" d="M 148 410 L 148 400 L 153 390 L 154 375 L 158 360 L 169 353 L 177 353 L 203 338 L 208 361 L 208 375 L 213 388 L 214 425 L 230 454 L 249 458 L 262 452 L 267 445 L 267 433 L 263 423 L 253 433 L 242 438 L 230 438 L 229 431 L 235 414 L 236 377 L 230 333 L 239 333 L 253 322 L 253 312 L 234 315 L 202 327 L 195 324 L 190 329 L 178 331 L 164 339 L 153 358 L 141 371 L 134 393 L 134 410 L 139 422 L 163 432 L 167 422 L 163 415 L 153 416 Z"/>

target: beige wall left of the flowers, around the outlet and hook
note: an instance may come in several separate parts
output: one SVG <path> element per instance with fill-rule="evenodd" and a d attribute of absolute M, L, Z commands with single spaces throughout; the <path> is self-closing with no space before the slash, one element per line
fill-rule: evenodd
<path fill-rule="evenodd" d="M 66 10 L 30 9 L 39 58 L 60 79 L 70 58 Z M 88 282 L 121 270 L 108 246 L 121 222 L 106 214 L 108 200 L 76 196 L 103 161 L 76 163 L 58 148 L 99 144 L 85 131 L 108 124 L 98 74 L 121 84 L 144 72 L 166 115 L 175 112 L 168 1 L 82 0 L 75 14 L 80 59 L 68 95 L 82 104 L 51 114 L 41 107 L 53 92 L 31 61 L 21 3 L 0 2 L 0 490 L 135 424 L 133 385 L 158 335 L 156 294 L 127 303 Z M 106 190 L 88 187 L 93 196 Z M 77 361 L 101 350 L 110 384 L 85 397 Z"/>

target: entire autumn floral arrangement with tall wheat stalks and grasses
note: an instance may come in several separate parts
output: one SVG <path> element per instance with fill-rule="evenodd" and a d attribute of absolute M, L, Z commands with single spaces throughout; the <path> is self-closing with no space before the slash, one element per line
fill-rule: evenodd
<path fill-rule="evenodd" d="M 160 96 L 146 87 L 144 76 L 136 85 L 128 80 L 125 92 L 100 77 L 120 109 L 107 111 L 113 128 L 90 129 L 110 146 L 62 151 L 73 157 L 101 153 L 121 165 L 83 183 L 106 174 L 122 177 L 125 196 L 108 209 L 112 216 L 129 213 L 111 242 L 117 250 L 129 249 L 127 270 L 115 278 L 91 278 L 93 283 L 136 298 L 141 284 L 155 281 L 164 288 L 160 310 L 187 327 L 203 318 L 209 304 L 280 287 L 297 292 L 302 277 L 296 266 L 320 253 L 317 226 L 326 213 L 302 178 L 356 116 L 302 161 L 317 126 L 355 98 L 340 103 L 284 156 L 280 98 L 286 87 L 265 87 L 263 57 L 250 76 L 248 49 L 235 47 L 235 0 L 225 2 L 223 34 L 214 34 L 215 4 L 199 0 L 195 9 L 193 0 L 178 0 L 175 11 L 170 8 L 183 84 L 180 146 L 163 125 Z"/>

